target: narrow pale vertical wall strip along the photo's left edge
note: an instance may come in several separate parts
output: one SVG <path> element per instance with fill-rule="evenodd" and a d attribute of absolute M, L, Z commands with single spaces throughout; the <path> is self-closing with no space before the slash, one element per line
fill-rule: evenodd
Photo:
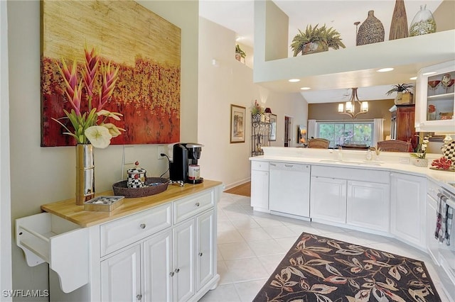
<path fill-rule="evenodd" d="M 0 289 L 13 289 L 11 279 L 11 180 L 9 177 L 8 18 L 0 1 Z M 0 296 L 0 301 L 11 297 Z"/>

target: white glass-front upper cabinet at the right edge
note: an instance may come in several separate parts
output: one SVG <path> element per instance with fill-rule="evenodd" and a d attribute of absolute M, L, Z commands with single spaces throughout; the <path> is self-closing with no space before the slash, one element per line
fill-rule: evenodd
<path fill-rule="evenodd" d="M 416 131 L 455 133 L 455 60 L 422 68 L 417 75 Z"/>

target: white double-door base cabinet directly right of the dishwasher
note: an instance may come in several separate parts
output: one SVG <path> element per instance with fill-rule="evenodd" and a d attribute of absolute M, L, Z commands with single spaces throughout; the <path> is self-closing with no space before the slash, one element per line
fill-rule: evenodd
<path fill-rule="evenodd" d="M 335 177 L 336 176 L 336 177 Z M 313 166 L 311 219 L 388 233 L 390 177 L 388 172 Z"/>

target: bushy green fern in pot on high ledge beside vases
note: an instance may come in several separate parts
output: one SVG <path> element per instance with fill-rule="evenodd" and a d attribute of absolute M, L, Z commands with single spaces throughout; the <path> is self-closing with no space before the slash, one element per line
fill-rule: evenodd
<path fill-rule="evenodd" d="M 292 40 L 291 48 L 294 51 L 294 57 L 296 57 L 299 52 L 302 55 L 306 55 L 314 52 L 323 52 L 327 51 L 328 48 L 333 48 L 334 50 L 346 48 L 346 46 L 341 42 L 340 33 L 337 30 L 327 28 L 326 24 L 322 27 L 318 27 L 319 24 L 312 27 L 311 25 L 306 26 L 305 32 L 299 30 L 299 33 Z"/>

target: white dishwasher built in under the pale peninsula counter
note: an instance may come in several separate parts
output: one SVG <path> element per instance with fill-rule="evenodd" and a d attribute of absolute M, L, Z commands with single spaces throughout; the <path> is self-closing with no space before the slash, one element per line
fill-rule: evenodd
<path fill-rule="evenodd" d="M 310 216 L 309 164 L 269 163 L 269 209 L 286 216 Z M 299 217 L 297 217 L 299 218 Z"/>

